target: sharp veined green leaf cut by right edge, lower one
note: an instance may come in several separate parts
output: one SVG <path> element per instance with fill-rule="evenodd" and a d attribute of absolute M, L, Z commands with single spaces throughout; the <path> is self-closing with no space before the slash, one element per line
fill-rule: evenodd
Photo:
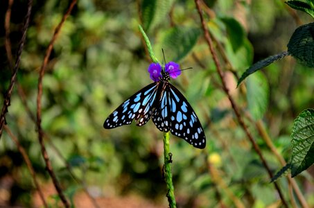
<path fill-rule="evenodd" d="M 304 110 L 293 123 L 291 175 L 301 173 L 314 162 L 314 109 Z"/>

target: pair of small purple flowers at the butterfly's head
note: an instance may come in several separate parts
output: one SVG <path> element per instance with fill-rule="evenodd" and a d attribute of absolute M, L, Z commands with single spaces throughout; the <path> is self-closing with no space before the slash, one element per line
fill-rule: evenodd
<path fill-rule="evenodd" d="M 180 65 L 176 62 L 168 62 L 166 64 L 166 73 L 173 79 L 177 78 L 181 74 Z M 150 73 L 150 78 L 157 82 L 162 78 L 162 66 L 159 63 L 151 63 L 148 67 L 148 72 Z"/>

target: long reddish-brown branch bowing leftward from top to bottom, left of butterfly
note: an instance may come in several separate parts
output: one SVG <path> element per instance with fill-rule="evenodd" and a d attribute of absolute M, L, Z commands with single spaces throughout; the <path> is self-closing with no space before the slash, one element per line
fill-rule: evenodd
<path fill-rule="evenodd" d="M 42 63 L 42 67 L 40 68 L 40 76 L 38 78 L 38 94 L 37 94 L 38 140 L 40 141 L 40 146 L 42 147 L 42 156 L 44 157 L 47 171 L 48 171 L 49 175 L 51 176 L 51 179 L 53 180 L 53 184 L 55 186 L 55 189 L 58 192 L 58 195 L 59 195 L 60 199 L 62 200 L 64 207 L 70 207 L 70 205 L 69 205 L 67 198 L 65 198 L 64 193 L 62 192 L 62 189 L 60 187 L 60 183 L 57 180 L 57 177 L 55 177 L 55 173 L 53 172 L 53 167 L 51 166 L 49 156 L 48 156 L 48 154 L 46 152 L 46 148 L 44 146 L 44 139 L 43 139 L 44 132 L 42 130 L 42 105 L 41 105 L 41 103 L 42 103 L 42 78 L 44 77 L 46 65 L 48 64 L 48 60 L 49 60 L 49 57 L 51 55 L 51 51 L 53 49 L 53 44 L 54 44 L 55 40 L 57 39 L 58 34 L 60 33 L 60 30 L 64 24 L 64 21 L 70 15 L 70 12 L 73 9 L 75 4 L 76 4 L 76 0 L 73 0 L 71 2 L 67 12 L 63 15 L 62 20 L 58 24 L 57 28 L 55 28 L 55 33 L 53 34 L 53 37 L 51 38 L 49 46 L 46 50 L 46 54 L 44 56 L 44 62 Z"/>

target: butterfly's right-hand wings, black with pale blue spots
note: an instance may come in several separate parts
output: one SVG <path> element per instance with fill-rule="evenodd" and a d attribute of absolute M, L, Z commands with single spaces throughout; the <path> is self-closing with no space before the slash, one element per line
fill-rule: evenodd
<path fill-rule="evenodd" d="M 204 148 L 204 130 L 193 108 L 171 83 L 164 85 L 164 93 L 152 113 L 152 121 L 159 130 L 170 130 L 173 135 L 185 139 L 195 148 Z"/>

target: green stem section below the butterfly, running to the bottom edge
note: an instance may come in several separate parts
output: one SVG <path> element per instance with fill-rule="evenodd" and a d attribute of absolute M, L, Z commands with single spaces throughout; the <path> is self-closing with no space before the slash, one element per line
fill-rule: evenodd
<path fill-rule="evenodd" d="M 169 132 L 164 132 L 164 176 L 167 184 L 167 198 L 169 207 L 177 207 L 175 202 L 175 189 L 173 187 L 173 174 L 171 173 L 172 155 L 169 147 Z"/>

